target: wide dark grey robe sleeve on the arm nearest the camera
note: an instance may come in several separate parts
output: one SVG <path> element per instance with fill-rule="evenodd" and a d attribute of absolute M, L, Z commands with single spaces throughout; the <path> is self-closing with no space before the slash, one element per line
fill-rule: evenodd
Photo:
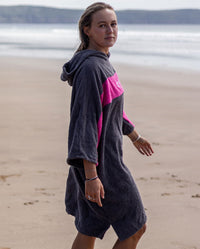
<path fill-rule="evenodd" d="M 98 121 L 102 113 L 102 84 L 91 66 L 73 80 L 67 163 L 83 167 L 83 159 L 98 165 Z"/>

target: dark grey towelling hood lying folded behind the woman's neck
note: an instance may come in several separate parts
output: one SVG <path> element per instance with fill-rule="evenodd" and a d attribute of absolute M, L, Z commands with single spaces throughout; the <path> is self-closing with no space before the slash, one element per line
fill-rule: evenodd
<path fill-rule="evenodd" d="M 105 60 L 108 59 L 110 54 L 106 55 L 103 52 L 96 51 L 96 50 L 82 50 L 74 54 L 72 59 L 64 64 L 63 71 L 61 74 L 62 81 L 68 81 L 69 85 L 73 85 L 73 78 L 76 71 L 80 68 L 82 63 L 91 56 L 100 57 Z"/>

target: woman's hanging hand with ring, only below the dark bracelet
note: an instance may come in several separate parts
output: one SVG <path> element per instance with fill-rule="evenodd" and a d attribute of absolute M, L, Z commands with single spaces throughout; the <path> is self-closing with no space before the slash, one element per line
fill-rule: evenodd
<path fill-rule="evenodd" d="M 92 181 L 85 181 L 85 197 L 92 202 L 96 202 L 102 207 L 101 198 L 104 199 L 104 188 L 99 178 Z"/>

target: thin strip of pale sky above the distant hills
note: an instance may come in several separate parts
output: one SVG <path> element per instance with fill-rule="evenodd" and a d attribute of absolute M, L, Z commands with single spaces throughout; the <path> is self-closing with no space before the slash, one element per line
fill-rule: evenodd
<path fill-rule="evenodd" d="M 99 0 L 97 0 L 99 1 Z M 85 9 L 97 2 L 90 0 L 0 0 L 0 5 L 39 5 L 58 8 Z M 200 0 L 100 0 L 109 3 L 116 10 L 120 9 L 200 9 Z"/>

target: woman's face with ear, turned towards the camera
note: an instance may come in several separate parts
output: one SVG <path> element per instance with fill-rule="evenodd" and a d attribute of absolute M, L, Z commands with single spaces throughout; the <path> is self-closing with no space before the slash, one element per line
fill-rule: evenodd
<path fill-rule="evenodd" d="M 103 9 L 92 16 L 90 27 L 84 28 L 85 34 L 89 37 L 88 49 L 108 53 L 117 40 L 117 17 L 113 10 Z"/>

